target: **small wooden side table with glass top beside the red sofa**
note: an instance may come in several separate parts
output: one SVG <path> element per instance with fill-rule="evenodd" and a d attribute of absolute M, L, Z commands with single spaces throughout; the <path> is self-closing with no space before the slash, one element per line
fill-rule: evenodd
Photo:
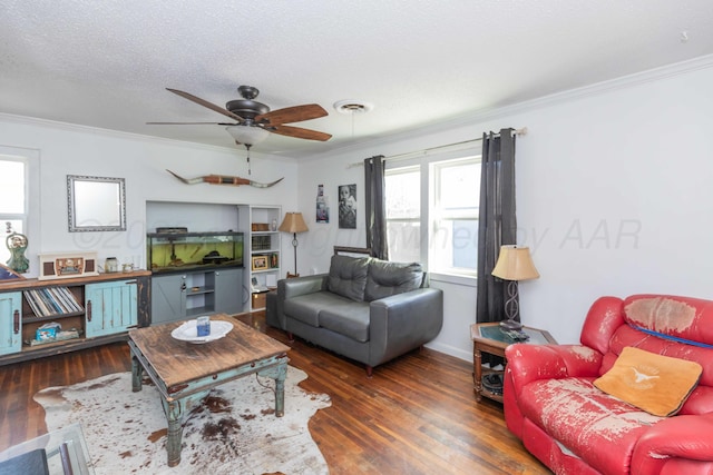
<path fill-rule="evenodd" d="M 553 336 L 547 330 L 522 327 L 522 331 L 528 334 L 530 339 L 521 343 L 527 343 L 530 345 L 557 344 L 555 338 L 553 338 Z M 485 369 L 484 372 L 481 363 L 482 353 L 501 356 L 502 358 L 505 358 L 505 348 L 514 343 L 520 342 L 515 342 L 507 334 L 502 333 L 498 323 L 472 324 L 470 326 L 470 338 L 472 339 L 472 380 L 473 390 L 476 393 L 476 400 L 480 402 L 485 396 L 502 403 L 501 395 L 490 393 L 482 386 L 484 375 L 489 373 L 502 373 L 495 369 Z"/>

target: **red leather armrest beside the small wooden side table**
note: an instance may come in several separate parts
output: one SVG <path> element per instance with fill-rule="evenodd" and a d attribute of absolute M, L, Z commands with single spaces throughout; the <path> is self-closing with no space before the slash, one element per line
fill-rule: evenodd
<path fill-rule="evenodd" d="M 602 366 L 602 354 L 583 345 L 518 343 L 505 349 L 505 358 L 518 394 L 537 379 L 596 377 Z"/>

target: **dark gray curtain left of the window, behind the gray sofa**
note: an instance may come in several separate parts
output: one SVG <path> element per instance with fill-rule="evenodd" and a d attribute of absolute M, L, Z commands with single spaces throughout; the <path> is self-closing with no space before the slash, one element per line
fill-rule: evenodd
<path fill-rule="evenodd" d="M 364 187 L 367 247 L 371 249 L 372 257 L 389 260 L 383 155 L 364 160 Z"/>

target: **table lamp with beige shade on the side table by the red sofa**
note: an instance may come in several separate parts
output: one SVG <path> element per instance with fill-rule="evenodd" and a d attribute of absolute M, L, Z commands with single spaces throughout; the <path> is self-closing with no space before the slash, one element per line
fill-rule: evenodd
<path fill-rule="evenodd" d="M 516 320 L 520 313 L 518 303 L 518 280 L 530 280 L 539 277 L 528 247 L 515 245 L 500 246 L 498 261 L 492 275 L 508 281 L 508 299 L 505 303 L 507 320 L 500 321 L 500 327 L 507 330 L 519 330 L 522 324 Z"/>

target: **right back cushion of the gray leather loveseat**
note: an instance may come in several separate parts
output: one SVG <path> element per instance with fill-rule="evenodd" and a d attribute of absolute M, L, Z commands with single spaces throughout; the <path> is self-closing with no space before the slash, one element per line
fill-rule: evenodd
<path fill-rule="evenodd" d="M 371 301 L 404 291 L 416 290 L 423 280 L 423 269 L 418 263 L 390 263 L 372 259 L 364 300 Z"/>

